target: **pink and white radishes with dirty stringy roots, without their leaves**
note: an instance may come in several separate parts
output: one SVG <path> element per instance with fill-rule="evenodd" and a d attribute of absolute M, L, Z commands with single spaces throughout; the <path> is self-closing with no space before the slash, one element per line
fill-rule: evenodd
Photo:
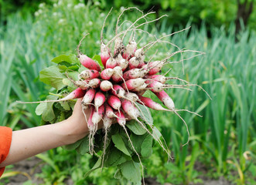
<path fill-rule="evenodd" d="M 105 150 L 108 129 L 112 123 L 118 123 L 125 130 L 129 143 L 131 143 L 131 147 L 142 164 L 142 161 L 140 160 L 140 157 L 131 142 L 125 124 L 128 120 L 135 119 L 135 121 L 137 121 L 140 126 L 142 126 L 142 128 L 145 129 L 148 134 L 150 134 L 160 144 L 160 146 L 162 146 L 163 150 L 168 153 L 166 147 L 163 145 L 159 137 L 152 133 L 153 126 L 151 124 L 147 124 L 145 115 L 142 113 L 143 111 L 140 107 L 145 106 L 155 110 L 171 111 L 179 116 L 177 113 L 179 110 L 175 108 L 172 98 L 165 92 L 165 89 L 186 89 L 184 86 L 197 85 L 189 84 L 185 80 L 176 77 L 166 77 L 159 74 L 159 72 L 161 72 L 162 67 L 166 63 L 169 63 L 168 60 L 173 55 L 176 55 L 177 53 L 196 51 L 182 50 L 171 42 L 162 40 L 167 36 L 173 35 L 174 33 L 163 36 L 159 39 L 155 38 L 155 41 L 148 42 L 147 45 L 142 46 L 142 48 L 138 48 L 137 42 L 135 42 L 135 32 L 143 32 L 143 30 L 139 29 L 139 27 L 148 24 L 149 22 L 154 22 L 159 18 L 148 21 L 146 19 L 147 15 L 153 13 L 149 12 L 142 15 L 142 17 L 138 18 L 135 22 L 130 22 L 131 25 L 128 27 L 128 29 L 118 32 L 118 22 L 121 15 L 128 9 L 131 8 L 125 9 L 119 15 L 116 26 L 116 35 L 108 42 L 108 44 L 104 44 L 103 42 L 103 25 L 101 30 L 101 63 L 104 68 L 101 67 L 98 62 L 94 61 L 94 59 L 90 59 L 90 57 L 80 52 L 80 43 L 84 39 L 83 38 L 77 46 L 77 57 L 79 58 L 80 63 L 86 69 L 79 73 L 79 80 L 69 78 L 77 89 L 73 90 L 73 92 L 62 99 L 46 100 L 44 102 L 60 102 L 70 99 L 83 98 L 82 109 L 84 115 L 86 115 L 85 113 L 87 111 L 90 112 L 90 116 L 88 118 L 85 116 L 87 119 L 87 126 L 90 130 L 90 153 L 94 153 L 94 135 L 98 130 L 98 124 L 102 121 L 104 125 Z M 135 9 L 138 10 L 138 8 Z M 136 25 L 139 20 L 143 19 L 145 19 L 145 22 Z M 105 21 L 106 19 L 104 20 L 104 23 Z M 128 32 L 130 32 L 130 39 L 125 45 L 124 39 L 128 35 Z M 146 33 L 149 34 L 148 32 Z M 152 61 L 153 56 L 147 55 L 146 57 L 146 53 L 148 49 L 155 45 L 155 43 L 159 42 L 167 42 L 175 46 L 178 51 L 167 55 L 162 60 Z M 112 44 L 114 44 L 114 47 L 111 47 Z M 202 52 L 199 53 L 202 54 Z M 145 59 L 148 59 L 148 61 L 145 61 Z M 179 62 L 183 62 L 183 60 Z M 185 82 L 185 85 L 166 84 L 167 80 L 169 79 L 179 79 Z M 166 106 L 166 108 L 164 108 L 161 104 L 154 102 L 152 99 L 144 97 L 143 94 L 147 90 L 154 93 L 155 96 L 157 96 L 163 103 L 163 105 Z M 141 104 L 142 106 L 139 106 L 138 104 Z M 183 122 L 185 123 L 184 120 Z M 104 153 L 102 161 L 104 161 Z"/>

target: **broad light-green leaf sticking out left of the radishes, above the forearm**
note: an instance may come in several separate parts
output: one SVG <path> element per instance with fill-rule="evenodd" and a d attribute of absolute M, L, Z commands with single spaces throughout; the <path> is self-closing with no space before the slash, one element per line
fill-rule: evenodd
<path fill-rule="evenodd" d="M 57 90 L 66 86 L 62 82 L 63 79 L 66 79 L 66 76 L 60 73 L 60 69 L 57 66 L 49 66 L 49 68 L 43 69 L 39 78 L 42 82 L 53 86 Z"/>

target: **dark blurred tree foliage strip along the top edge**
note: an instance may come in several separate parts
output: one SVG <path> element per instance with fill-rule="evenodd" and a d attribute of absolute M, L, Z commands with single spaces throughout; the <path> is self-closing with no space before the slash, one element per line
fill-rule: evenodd
<path fill-rule="evenodd" d="M 6 16 L 18 9 L 22 12 L 36 12 L 40 3 L 53 4 L 57 3 L 56 0 L 40 0 L 40 1 L 25 1 L 25 0 L 0 0 L 2 20 Z M 202 22 L 206 25 L 215 25 L 220 27 L 226 25 L 227 27 L 231 22 L 237 18 L 237 8 L 239 3 L 252 2 L 254 7 L 256 1 L 254 0 L 81 0 L 76 1 L 84 2 L 85 4 L 93 3 L 98 5 L 104 11 L 108 11 L 111 7 L 131 7 L 136 6 L 144 12 L 155 11 L 158 15 L 169 15 L 168 22 L 171 25 L 186 25 L 187 22 L 192 22 L 194 25 L 200 26 Z M 251 29 L 256 29 L 256 11 L 251 13 L 248 20 L 248 25 Z"/>

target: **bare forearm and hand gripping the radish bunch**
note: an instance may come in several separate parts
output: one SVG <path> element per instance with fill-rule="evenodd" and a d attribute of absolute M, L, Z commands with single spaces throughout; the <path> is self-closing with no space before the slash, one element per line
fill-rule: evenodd
<path fill-rule="evenodd" d="M 89 113 L 87 111 L 87 117 Z M 88 133 L 87 122 L 81 108 L 81 99 L 78 99 L 72 116 L 60 123 L 13 131 L 9 155 L 0 167 L 25 160 L 58 146 L 75 143 Z"/>

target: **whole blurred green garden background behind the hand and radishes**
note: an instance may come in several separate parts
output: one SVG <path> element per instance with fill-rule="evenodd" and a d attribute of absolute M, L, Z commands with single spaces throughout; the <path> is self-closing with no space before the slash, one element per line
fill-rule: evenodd
<path fill-rule="evenodd" d="M 169 37 L 181 49 L 205 52 L 189 59 L 184 69 L 172 64 L 168 76 L 176 76 L 203 87 L 169 89 L 186 126 L 173 113 L 152 111 L 155 125 L 172 152 L 174 160 L 158 144 L 152 156 L 144 160 L 145 178 L 155 184 L 207 184 L 223 180 L 225 184 L 256 182 L 256 1 L 254 0 L 0 0 L 0 125 L 13 130 L 42 124 L 35 113 L 36 104 L 18 104 L 16 100 L 38 101 L 49 94 L 49 86 L 39 80 L 39 72 L 53 65 L 57 55 L 81 49 L 89 56 L 100 53 L 100 32 L 105 16 L 111 12 L 104 35 L 114 36 L 115 21 L 125 7 L 136 6 L 143 12 L 155 11 L 155 17 L 168 15 L 143 29 L 156 37 L 181 29 L 190 29 Z M 135 11 L 123 19 L 138 18 Z M 147 43 L 142 37 L 140 45 Z M 156 55 L 172 50 L 157 45 Z M 154 53 L 154 52 L 153 52 Z M 176 58 L 179 59 L 179 58 Z M 183 72 L 184 70 L 184 72 Z M 165 72 L 165 70 L 163 70 Z M 155 96 L 146 96 L 155 99 Z M 157 99 L 155 99 L 157 101 Z M 96 170 L 84 179 L 92 166 L 92 157 L 73 150 L 57 148 L 37 156 L 41 172 L 33 174 L 42 184 L 127 184 L 114 179 L 115 169 Z M 15 177 L 14 166 L 0 184 Z M 29 178 L 24 184 L 36 184 Z M 149 183 L 148 183 L 149 184 Z M 152 183 L 153 184 L 153 183 Z"/>

